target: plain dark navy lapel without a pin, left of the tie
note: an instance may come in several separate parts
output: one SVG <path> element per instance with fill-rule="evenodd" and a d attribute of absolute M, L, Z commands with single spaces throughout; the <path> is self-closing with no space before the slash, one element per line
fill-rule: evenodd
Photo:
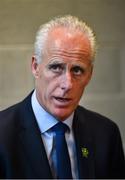
<path fill-rule="evenodd" d="M 31 97 L 28 97 L 21 109 L 20 140 L 35 177 L 49 179 L 52 174 L 30 101 Z"/>

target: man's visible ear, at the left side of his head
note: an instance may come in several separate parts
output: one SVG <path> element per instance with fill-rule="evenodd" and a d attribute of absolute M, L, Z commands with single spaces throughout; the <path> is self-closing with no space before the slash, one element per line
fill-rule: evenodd
<path fill-rule="evenodd" d="M 34 77 L 38 78 L 39 65 L 37 63 L 37 60 L 36 60 L 35 56 L 32 56 L 31 69 L 32 69 L 32 73 L 33 73 Z"/>

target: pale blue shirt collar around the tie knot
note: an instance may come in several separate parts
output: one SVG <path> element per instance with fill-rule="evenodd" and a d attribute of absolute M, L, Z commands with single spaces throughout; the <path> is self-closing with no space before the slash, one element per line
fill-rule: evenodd
<path fill-rule="evenodd" d="M 36 90 L 32 94 L 31 104 L 41 133 L 46 132 L 47 130 L 49 130 L 51 127 L 53 127 L 55 124 L 59 122 L 54 116 L 49 114 L 39 104 L 36 97 Z M 66 120 L 63 121 L 63 123 L 65 123 L 70 128 L 70 130 L 72 129 L 73 116 L 74 116 L 74 112 Z"/>

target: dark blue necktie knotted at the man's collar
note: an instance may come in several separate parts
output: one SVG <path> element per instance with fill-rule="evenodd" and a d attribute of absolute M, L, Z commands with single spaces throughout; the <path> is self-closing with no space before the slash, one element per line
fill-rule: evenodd
<path fill-rule="evenodd" d="M 59 122 L 52 127 L 52 130 L 56 134 L 57 179 L 72 179 L 70 158 L 65 140 L 65 132 L 70 129 L 66 124 Z"/>

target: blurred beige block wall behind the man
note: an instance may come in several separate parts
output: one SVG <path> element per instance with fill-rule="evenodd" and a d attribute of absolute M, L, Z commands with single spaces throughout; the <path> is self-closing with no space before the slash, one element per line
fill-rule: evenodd
<path fill-rule="evenodd" d="M 80 103 L 113 119 L 125 143 L 124 0 L 0 0 L 0 110 L 33 89 L 35 33 L 42 23 L 63 14 L 87 21 L 98 38 L 93 79 Z"/>

